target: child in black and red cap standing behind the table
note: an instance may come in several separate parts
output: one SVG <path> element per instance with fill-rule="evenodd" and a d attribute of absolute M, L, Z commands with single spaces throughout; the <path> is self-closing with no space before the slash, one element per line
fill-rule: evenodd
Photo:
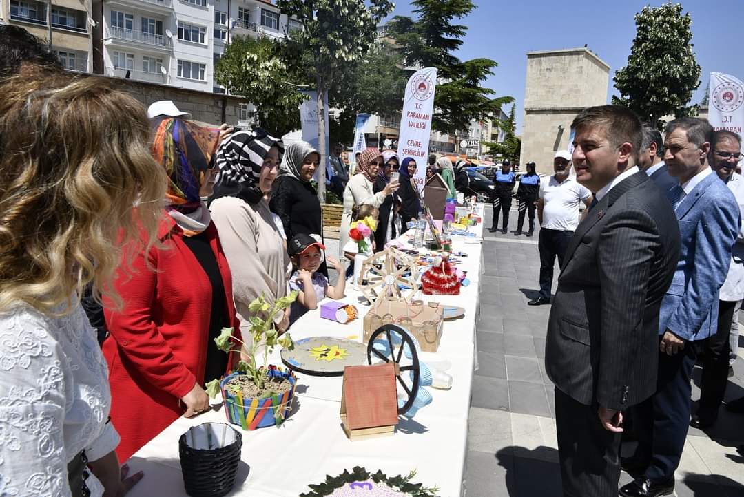
<path fill-rule="evenodd" d="M 292 308 L 289 311 L 290 325 L 307 311 L 317 309 L 318 302 L 325 297 L 338 300 L 344 296 L 346 279 L 344 279 L 344 267 L 339 261 L 328 258 L 328 265 L 339 274 L 335 286 L 330 286 L 327 276 L 318 271 L 324 257 L 322 250 L 325 250 L 324 244 L 304 233 L 293 236 L 287 244 L 287 252 L 295 268 L 289 279 L 289 288 L 298 292 L 297 300 L 292 302 Z"/>

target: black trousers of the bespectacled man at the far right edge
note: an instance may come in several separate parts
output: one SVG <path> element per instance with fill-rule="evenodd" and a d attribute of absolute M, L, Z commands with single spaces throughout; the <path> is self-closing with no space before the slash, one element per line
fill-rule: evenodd
<path fill-rule="evenodd" d="M 728 358 L 731 345 L 731 319 L 737 302 L 718 301 L 718 329 L 713 337 L 703 342 L 705 359 L 702 363 L 700 380 L 699 418 L 714 421 L 718 418 L 718 408 L 723 402 L 728 384 Z"/>

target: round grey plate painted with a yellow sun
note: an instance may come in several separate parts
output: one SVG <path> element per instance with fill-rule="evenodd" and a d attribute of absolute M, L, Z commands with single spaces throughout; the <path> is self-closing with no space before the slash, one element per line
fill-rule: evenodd
<path fill-rule="evenodd" d="M 367 347 L 346 338 L 311 337 L 295 342 L 294 350 L 283 348 L 284 366 L 311 376 L 343 376 L 346 366 L 367 363 Z"/>

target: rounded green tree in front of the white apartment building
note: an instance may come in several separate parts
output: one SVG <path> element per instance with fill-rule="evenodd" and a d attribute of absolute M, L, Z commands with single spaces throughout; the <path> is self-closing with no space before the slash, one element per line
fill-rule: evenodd
<path fill-rule="evenodd" d="M 268 37 L 235 36 L 217 62 L 214 79 L 257 108 L 259 123 L 281 136 L 300 125 L 298 105 L 307 97 L 294 85 L 281 46 Z"/>

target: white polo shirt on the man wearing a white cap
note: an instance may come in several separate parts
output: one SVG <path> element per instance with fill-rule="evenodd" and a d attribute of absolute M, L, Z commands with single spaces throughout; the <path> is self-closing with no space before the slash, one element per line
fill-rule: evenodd
<path fill-rule="evenodd" d="M 562 183 L 555 175 L 550 181 L 540 182 L 542 228 L 548 230 L 575 231 L 579 225 L 579 204 L 591 197 L 591 192 L 570 177 Z"/>

